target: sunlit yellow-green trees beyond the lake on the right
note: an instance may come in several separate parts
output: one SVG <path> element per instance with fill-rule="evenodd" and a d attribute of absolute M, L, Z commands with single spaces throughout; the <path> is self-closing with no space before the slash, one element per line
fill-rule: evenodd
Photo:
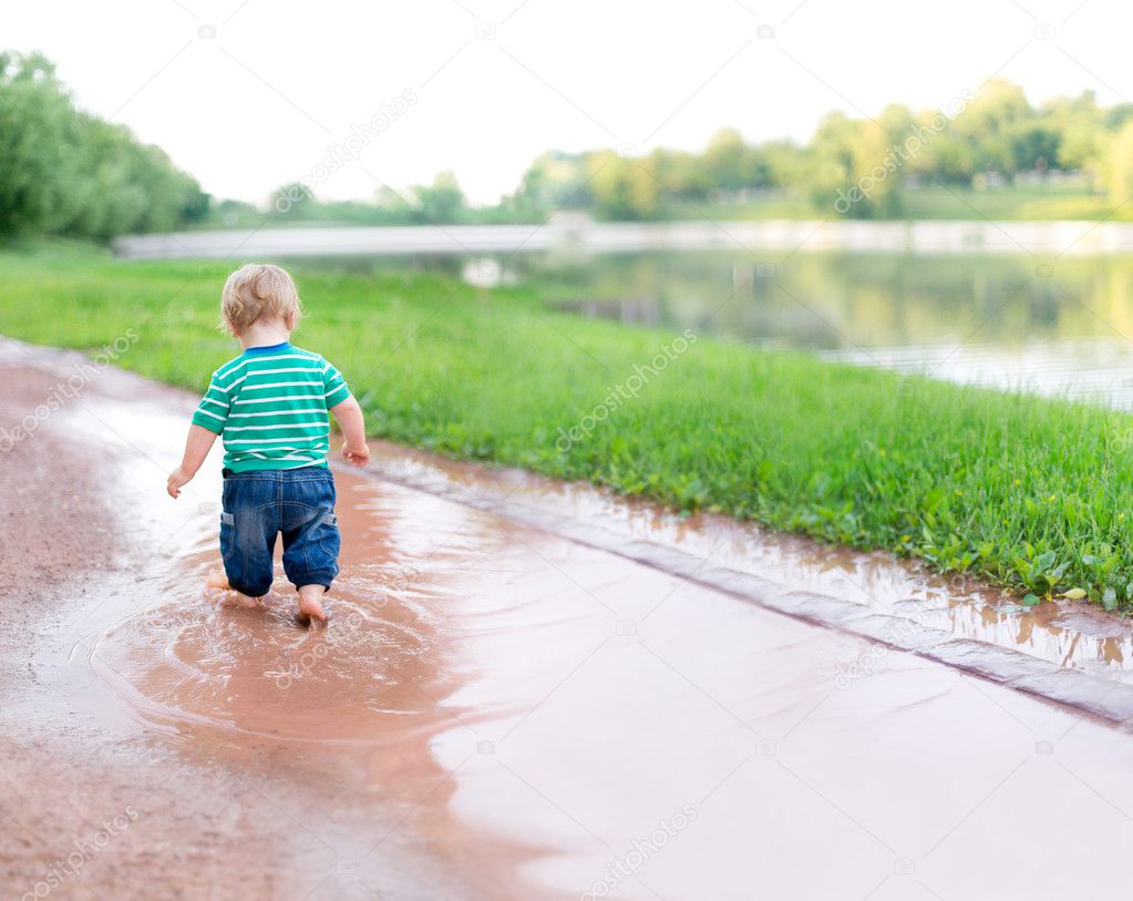
<path fill-rule="evenodd" d="M 1123 203 L 1133 195 L 1133 103 L 1105 108 L 1087 91 L 1033 107 L 1020 86 L 991 79 L 939 110 L 832 112 L 807 144 L 748 143 L 725 129 L 701 153 L 545 153 L 511 203 L 536 214 L 578 209 L 644 220 L 679 212 L 682 203 L 791 193 L 816 210 L 869 219 L 900 216 L 908 192 L 926 186 L 1020 181 L 1073 184 Z"/>

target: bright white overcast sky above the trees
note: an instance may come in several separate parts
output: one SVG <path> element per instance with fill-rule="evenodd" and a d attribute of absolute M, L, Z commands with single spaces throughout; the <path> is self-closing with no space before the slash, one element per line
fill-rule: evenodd
<path fill-rule="evenodd" d="M 548 148 L 806 141 L 830 110 L 936 109 L 991 76 L 1133 95 L 1125 0 L 37 0 L 0 23 L 80 107 L 259 204 L 443 169 L 494 203 Z"/>

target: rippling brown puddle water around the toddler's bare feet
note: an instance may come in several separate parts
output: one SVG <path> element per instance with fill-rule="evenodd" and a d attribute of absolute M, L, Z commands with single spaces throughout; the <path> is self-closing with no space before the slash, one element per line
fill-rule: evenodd
<path fill-rule="evenodd" d="M 177 598 L 108 629 L 91 664 L 151 723 L 384 743 L 434 719 L 444 694 L 425 593 L 384 581 L 335 583 L 326 628 L 297 624 L 293 594 L 255 609 Z"/>

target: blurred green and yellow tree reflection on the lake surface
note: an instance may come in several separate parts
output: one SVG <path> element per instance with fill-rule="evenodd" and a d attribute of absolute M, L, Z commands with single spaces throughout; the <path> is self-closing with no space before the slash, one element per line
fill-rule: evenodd
<path fill-rule="evenodd" d="M 1133 335 L 1133 260 L 796 254 L 623 254 L 525 261 L 556 307 L 810 347 Z M 759 273 L 765 274 L 760 275 Z"/>

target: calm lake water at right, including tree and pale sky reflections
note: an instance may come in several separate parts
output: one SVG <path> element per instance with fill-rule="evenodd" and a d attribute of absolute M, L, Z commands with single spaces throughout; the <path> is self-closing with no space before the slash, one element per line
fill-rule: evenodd
<path fill-rule="evenodd" d="M 1133 408 L 1133 257 L 625 254 L 514 264 L 559 309 Z"/>

